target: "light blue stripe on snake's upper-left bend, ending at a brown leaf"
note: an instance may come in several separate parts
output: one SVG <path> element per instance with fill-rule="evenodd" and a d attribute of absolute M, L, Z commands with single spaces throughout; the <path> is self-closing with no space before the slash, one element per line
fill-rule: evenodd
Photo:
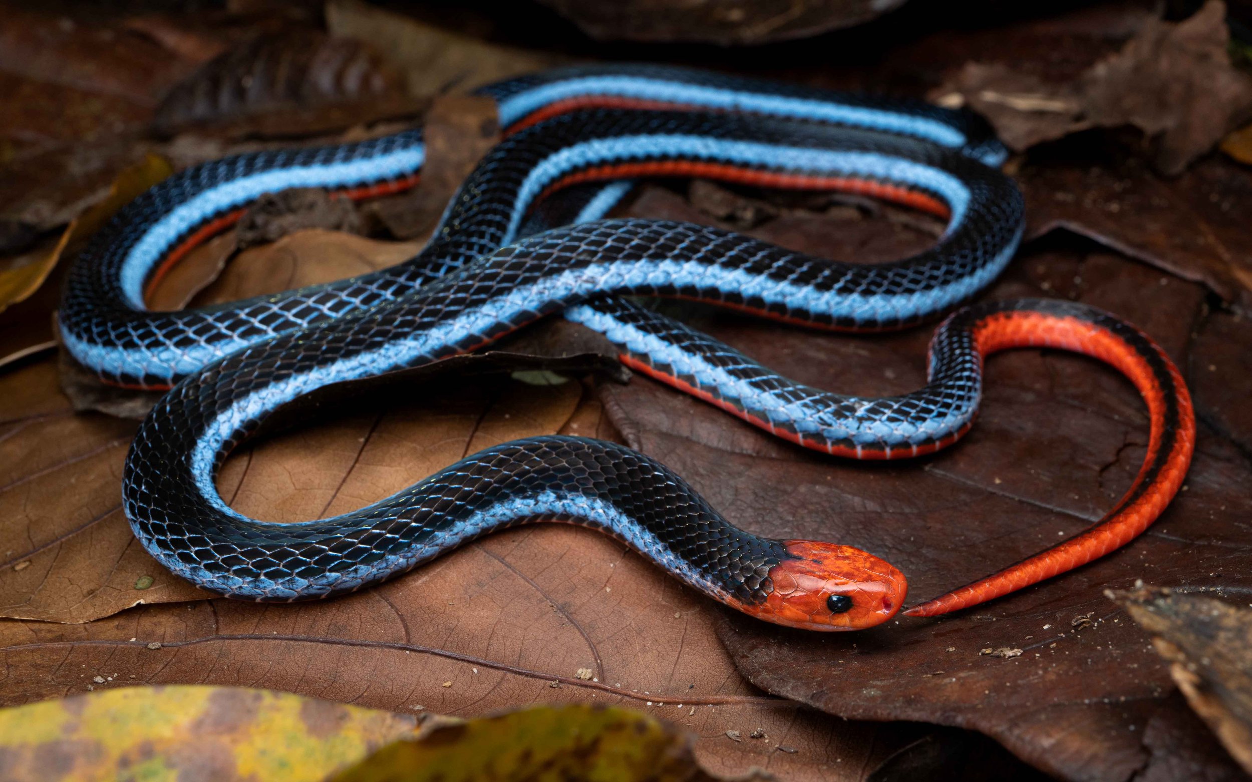
<path fill-rule="evenodd" d="M 426 145 L 413 144 L 359 160 L 270 169 L 209 188 L 154 223 L 126 253 L 119 279 L 126 304 L 145 309 L 143 287 L 148 274 L 179 239 L 214 215 L 289 188 L 347 188 L 396 179 L 421 170 L 424 160 Z"/>

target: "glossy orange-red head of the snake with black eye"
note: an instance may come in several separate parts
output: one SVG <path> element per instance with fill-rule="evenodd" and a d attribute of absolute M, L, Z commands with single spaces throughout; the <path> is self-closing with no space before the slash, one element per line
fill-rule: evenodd
<path fill-rule="evenodd" d="M 774 589 L 741 611 L 766 622 L 816 631 L 865 629 L 900 609 L 909 589 L 889 563 L 850 546 L 784 541 L 794 559 L 770 568 Z"/>

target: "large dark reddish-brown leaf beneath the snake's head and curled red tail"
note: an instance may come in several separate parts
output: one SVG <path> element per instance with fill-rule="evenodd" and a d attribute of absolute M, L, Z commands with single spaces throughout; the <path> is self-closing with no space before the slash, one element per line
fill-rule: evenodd
<path fill-rule="evenodd" d="M 838 230 L 824 235 L 826 254 L 854 253 Z M 1144 328 L 1184 367 L 1192 329 L 1206 317 L 1196 284 L 1063 246 L 1024 253 L 990 295 L 1064 295 L 1103 307 Z M 818 387 L 889 394 L 924 383 L 928 329 L 850 338 L 725 314 L 695 323 Z M 1211 382 L 1237 384 L 1236 373 L 1214 364 Z M 632 445 L 691 480 L 736 523 L 881 554 L 904 569 L 913 601 L 1098 519 L 1129 487 L 1147 442 L 1133 388 L 1108 368 L 1060 353 L 993 359 L 983 413 L 968 438 L 898 464 L 804 452 L 646 379 L 601 390 Z M 1102 591 L 1141 577 L 1219 594 L 1247 589 L 1252 578 L 1241 563 L 1252 538 L 1241 519 L 1252 500 L 1234 487 L 1249 480 L 1244 455 L 1202 429 L 1187 485 L 1164 517 L 1089 567 L 939 621 L 900 618 L 866 633 L 820 637 L 725 613 L 719 633 L 750 681 L 834 714 L 972 727 L 1065 778 L 1162 773 L 1181 757 L 1179 742 L 1162 737 L 1186 733 L 1193 717 L 1167 698 L 1172 686 L 1161 661 Z M 1194 763 L 1198 773 L 1222 761 L 1201 756 Z"/>

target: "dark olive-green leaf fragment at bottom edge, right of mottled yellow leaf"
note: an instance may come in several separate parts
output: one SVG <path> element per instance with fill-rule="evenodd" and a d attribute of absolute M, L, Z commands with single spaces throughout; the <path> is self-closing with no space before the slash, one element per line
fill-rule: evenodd
<path fill-rule="evenodd" d="M 679 728 L 617 707 L 536 707 L 480 719 L 436 718 L 343 771 L 336 782 L 710 779 Z"/>

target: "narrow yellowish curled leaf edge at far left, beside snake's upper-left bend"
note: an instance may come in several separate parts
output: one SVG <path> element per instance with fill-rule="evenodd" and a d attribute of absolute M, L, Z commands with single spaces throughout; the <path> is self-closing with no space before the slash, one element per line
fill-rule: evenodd
<path fill-rule="evenodd" d="M 119 209 L 173 171 L 174 168 L 165 158 L 154 154 L 145 155 L 140 163 L 118 174 L 118 178 L 109 186 L 109 195 L 103 201 L 70 221 L 51 251 L 23 256 L 20 263 L 10 268 L 0 268 L 0 312 L 39 290 L 39 287 L 44 284 L 44 280 L 61 259 L 66 246 L 94 234 Z"/>

